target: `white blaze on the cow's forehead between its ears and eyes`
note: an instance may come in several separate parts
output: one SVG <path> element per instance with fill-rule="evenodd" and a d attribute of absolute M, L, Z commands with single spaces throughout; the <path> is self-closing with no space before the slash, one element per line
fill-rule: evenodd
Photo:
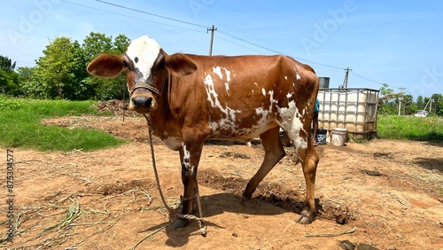
<path fill-rule="evenodd" d="M 160 50 L 159 43 L 147 35 L 141 36 L 129 44 L 126 55 L 136 67 L 137 82 L 146 82 Z"/>

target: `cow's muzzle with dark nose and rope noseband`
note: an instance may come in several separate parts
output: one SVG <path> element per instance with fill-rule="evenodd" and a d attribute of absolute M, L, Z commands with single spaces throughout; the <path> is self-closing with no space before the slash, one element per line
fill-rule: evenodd
<path fill-rule="evenodd" d="M 134 85 L 129 91 L 129 95 L 129 109 L 138 113 L 151 113 L 157 107 L 154 95 L 156 98 L 161 96 L 159 90 L 146 83 L 137 83 Z"/>

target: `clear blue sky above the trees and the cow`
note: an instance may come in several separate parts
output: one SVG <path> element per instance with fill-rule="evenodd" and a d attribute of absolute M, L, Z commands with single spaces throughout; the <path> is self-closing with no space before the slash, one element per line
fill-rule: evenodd
<path fill-rule="evenodd" d="M 3 4 L 0 23 L 0 55 L 17 66 L 35 66 L 51 39 L 82 43 L 91 31 L 150 35 L 167 53 L 208 54 L 214 25 L 213 54 L 286 54 L 330 77 L 330 88 L 349 67 L 348 88 L 385 82 L 414 98 L 443 94 L 439 0 L 19 0 Z"/>

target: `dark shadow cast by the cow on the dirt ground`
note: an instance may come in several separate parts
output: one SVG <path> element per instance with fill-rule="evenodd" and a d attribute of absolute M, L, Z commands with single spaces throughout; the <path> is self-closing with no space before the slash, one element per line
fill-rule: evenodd
<path fill-rule="evenodd" d="M 301 209 L 293 207 L 303 207 L 302 200 L 288 200 L 287 202 L 292 203 L 293 205 L 289 210 L 295 213 L 301 212 Z M 245 202 L 241 202 L 240 196 L 229 192 L 202 196 L 201 204 L 208 235 L 211 235 L 211 229 L 214 227 L 224 228 L 223 224 L 212 223 L 211 217 L 214 217 L 215 215 L 221 215 L 225 212 L 245 216 L 280 215 L 288 211 L 284 208 L 277 207 L 271 203 L 260 201 L 258 199 L 250 199 Z M 201 231 L 199 230 L 199 223 L 197 221 L 190 222 L 184 228 L 173 228 L 170 223 L 167 222 L 161 223 L 147 230 L 156 230 L 161 227 L 164 227 L 167 233 L 167 246 L 180 247 L 186 245 L 190 237 L 203 237 Z"/>

